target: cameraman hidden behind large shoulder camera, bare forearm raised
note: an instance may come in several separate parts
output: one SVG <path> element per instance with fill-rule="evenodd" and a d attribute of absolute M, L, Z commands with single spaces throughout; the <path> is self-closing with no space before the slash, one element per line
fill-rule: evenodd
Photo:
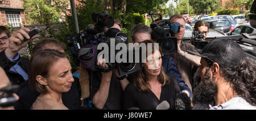
<path fill-rule="evenodd" d="M 128 81 L 125 76 L 119 76 L 118 64 L 105 63 L 104 57 L 97 60 L 98 53 L 102 51 L 97 50 L 97 46 L 101 43 L 110 45 L 110 38 L 115 39 L 115 45 L 120 42 L 127 44 L 128 38 L 114 23 L 112 16 L 95 12 L 92 18 L 96 22 L 95 26 L 86 27 L 84 32 L 69 34 L 66 40 L 73 50 L 73 56 L 79 58 L 82 66 L 88 69 L 92 109 L 121 109 L 123 87 Z"/>

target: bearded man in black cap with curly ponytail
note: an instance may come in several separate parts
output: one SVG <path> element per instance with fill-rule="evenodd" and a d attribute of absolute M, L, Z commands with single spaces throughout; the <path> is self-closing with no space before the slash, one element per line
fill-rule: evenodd
<path fill-rule="evenodd" d="M 201 82 L 193 90 L 193 109 L 256 110 L 256 64 L 246 59 L 240 45 L 210 41 L 199 56 Z"/>

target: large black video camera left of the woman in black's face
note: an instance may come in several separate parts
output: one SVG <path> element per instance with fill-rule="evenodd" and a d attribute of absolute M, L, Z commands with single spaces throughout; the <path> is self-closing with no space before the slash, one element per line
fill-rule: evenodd
<path fill-rule="evenodd" d="M 115 45 L 119 43 L 127 44 L 128 36 L 117 28 L 111 28 L 114 25 L 114 19 L 108 14 L 94 12 L 92 14 L 92 20 L 96 22 L 95 26 L 88 25 L 84 32 L 72 33 L 66 36 L 73 58 L 79 60 L 83 67 L 92 71 L 108 72 L 114 68 L 118 68 L 119 75 L 123 76 L 140 70 L 142 68 L 141 63 L 109 62 L 106 63 L 108 64 L 108 68 L 97 66 L 97 55 L 102 51 L 97 50 L 99 44 L 105 43 L 109 48 L 115 47 L 110 46 L 111 38 L 114 38 Z M 104 33 L 105 27 L 109 29 Z M 109 54 L 109 58 L 115 56 L 118 51 L 114 50 L 114 55 L 110 56 Z M 134 50 L 127 50 L 127 53 L 129 51 Z M 104 56 L 106 57 L 108 55 Z"/>

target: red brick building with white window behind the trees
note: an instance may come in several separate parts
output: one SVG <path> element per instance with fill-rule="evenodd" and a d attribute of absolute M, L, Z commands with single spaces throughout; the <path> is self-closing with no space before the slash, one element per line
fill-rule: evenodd
<path fill-rule="evenodd" d="M 0 0 L 0 25 L 20 27 L 25 24 L 22 0 Z"/>

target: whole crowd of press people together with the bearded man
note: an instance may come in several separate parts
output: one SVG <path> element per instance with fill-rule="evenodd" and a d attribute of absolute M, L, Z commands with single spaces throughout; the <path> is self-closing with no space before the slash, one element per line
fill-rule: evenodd
<path fill-rule="evenodd" d="M 163 55 L 160 47 L 155 50 L 152 29 L 141 23 L 135 25 L 131 42 L 147 45 L 142 50 L 147 53 L 146 63 L 142 63 L 141 70 L 126 76 L 120 76 L 117 68 L 108 72 L 88 71 L 88 79 L 92 80 L 90 96 L 86 98 L 92 103 L 88 104 L 81 100 L 80 79 L 72 75 L 63 42 L 43 38 L 32 49 L 32 57 L 23 58 L 18 51 L 36 36 L 28 36 L 30 29 L 25 27 L 10 34 L 1 26 L 0 89 L 10 84 L 19 88 L 14 92 L 15 105 L 0 108 L 175 110 L 179 107 L 175 103 L 177 97 L 185 94 L 191 101 L 187 109 L 256 109 L 256 64 L 246 59 L 240 45 L 232 40 L 214 40 L 199 53 L 195 46 L 182 40 L 186 23 L 183 16 L 172 16 L 170 23 L 180 24 L 179 31 L 171 33 L 177 38 L 176 53 Z M 112 28 L 121 31 L 116 23 Z M 195 30 L 204 32 L 204 40 L 208 29 L 203 20 L 195 24 Z M 152 49 L 151 53 L 148 49 Z M 108 67 L 104 57 L 97 60 L 97 66 Z M 200 81 L 193 87 L 195 74 Z"/>

